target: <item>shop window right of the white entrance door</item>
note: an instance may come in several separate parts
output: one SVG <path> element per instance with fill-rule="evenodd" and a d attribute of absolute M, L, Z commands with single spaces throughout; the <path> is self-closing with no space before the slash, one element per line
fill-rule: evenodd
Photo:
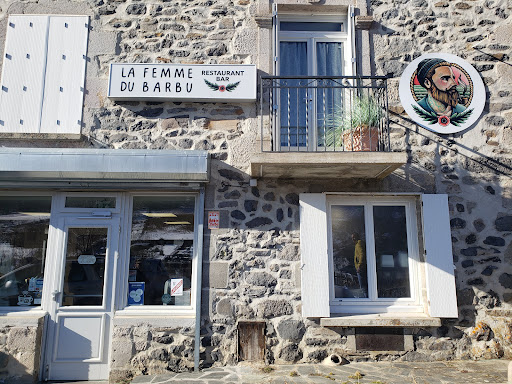
<path fill-rule="evenodd" d="M 198 241 L 202 207 L 195 193 L 133 194 L 128 197 L 128 257 L 118 314 L 193 314 L 200 262 Z M 141 295 L 137 295 L 137 290 Z M 132 294 L 132 291 L 135 293 Z"/>

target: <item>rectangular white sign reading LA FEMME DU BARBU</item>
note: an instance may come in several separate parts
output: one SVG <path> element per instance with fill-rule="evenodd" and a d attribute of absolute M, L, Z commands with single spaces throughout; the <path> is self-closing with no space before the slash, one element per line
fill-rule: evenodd
<path fill-rule="evenodd" d="M 110 65 L 112 100 L 253 102 L 255 65 Z"/>

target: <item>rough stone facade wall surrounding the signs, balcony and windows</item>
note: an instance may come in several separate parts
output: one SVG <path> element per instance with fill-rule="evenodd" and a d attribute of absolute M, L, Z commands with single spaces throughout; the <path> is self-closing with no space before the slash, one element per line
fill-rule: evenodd
<path fill-rule="evenodd" d="M 259 181 L 246 170 L 257 147 L 254 104 L 114 103 L 106 98 L 112 62 L 258 63 L 256 8 L 249 0 L 12 2 L 9 13 L 89 14 L 84 138 L 79 142 L 0 141 L 7 146 L 207 149 L 211 182 L 206 210 L 221 211 L 221 229 L 205 232 L 204 365 L 237 362 L 237 322 L 266 323 L 269 363 L 349 360 L 446 360 L 512 356 L 512 5 L 507 0 L 374 0 L 369 14 L 371 73 L 390 75 L 392 148 L 409 162 L 382 181 Z M 307 9 L 309 2 L 303 2 Z M 316 5 L 321 7 L 321 5 Z M 318 9 L 318 8 L 315 8 Z M 332 8 L 330 8 L 332 10 Z M 361 12 L 361 14 L 365 14 Z M 258 17 L 260 17 L 259 15 Z M 263 15 L 267 17 L 268 14 Z M 360 34 L 358 36 L 361 36 Z M 398 81 L 414 58 L 447 52 L 481 73 L 488 103 L 462 134 L 439 136 L 411 123 Z M 268 68 L 260 68 L 268 69 Z M 484 95 L 478 95 L 484 97 Z M 302 192 L 447 193 L 459 319 L 413 329 L 410 350 L 354 352 L 353 330 L 320 327 L 301 317 L 298 194 Z M 191 368 L 190 329 L 151 320 L 114 327 L 112 377 Z M 131 355 L 126 353 L 131 351 Z M 336 359 L 335 359 L 336 360 Z"/>

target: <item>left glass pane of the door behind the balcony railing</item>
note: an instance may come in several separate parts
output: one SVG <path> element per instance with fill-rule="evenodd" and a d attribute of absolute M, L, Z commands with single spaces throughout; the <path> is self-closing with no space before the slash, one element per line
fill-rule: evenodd
<path fill-rule="evenodd" d="M 281 76 L 307 76 L 307 43 L 284 41 L 279 45 L 279 74 Z M 280 80 L 280 140 L 283 147 L 305 147 L 307 100 L 312 90 L 308 81 L 299 79 Z"/>

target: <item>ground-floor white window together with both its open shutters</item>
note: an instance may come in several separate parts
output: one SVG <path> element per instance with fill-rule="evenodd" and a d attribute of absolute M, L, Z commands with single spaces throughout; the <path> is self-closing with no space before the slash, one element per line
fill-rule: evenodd
<path fill-rule="evenodd" d="M 303 316 L 457 317 L 446 195 L 304 193 L 300 225 Z"/>

